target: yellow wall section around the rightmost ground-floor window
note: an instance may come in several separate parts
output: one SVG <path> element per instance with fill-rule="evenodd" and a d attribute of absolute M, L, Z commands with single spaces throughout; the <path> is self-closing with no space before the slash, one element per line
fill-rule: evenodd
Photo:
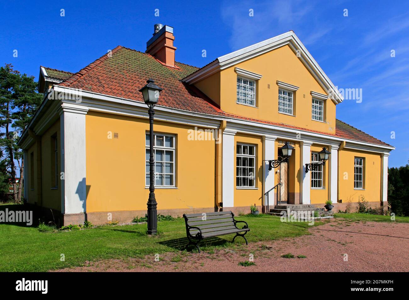
<path fill-rule="evenodd" d="M 380 201 L 381 156 L 379 154 L 342 149 L 338 153 L 338 199 L 342 203 L 357 202 L 363 195 L 369 202 Z M 364 189 L 354 189 L 354 158 L 365 158 Z"/>

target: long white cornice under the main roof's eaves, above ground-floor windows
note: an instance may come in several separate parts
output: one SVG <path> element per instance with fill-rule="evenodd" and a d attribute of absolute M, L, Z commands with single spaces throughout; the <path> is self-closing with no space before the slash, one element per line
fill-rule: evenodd
<path fill-rule="evenodd" d="M 62 91 L 65 94 L 72 93 L 78 95 L 78 89 L 71 89 L 67 87 L 54 86 L 55 91 Z M 76 113 L 86 113 L 86 111 L 99 111 L 105 113 L 112 113 L 122 116 L 134 116 L 139 118 L 148 118 L 147 107 L 143 102 L 134 100 L 128 100 L 125 98 L 119 98 L 114 96 L 103 95 L 100 93 L 93 93 L 88 91 L 81 91 L 82 100 L 81 103 L 76 103 L 75 100 L 63 100 L 63 102 L 55 101 L 57 104 L 47 106 L 49 116 L 41 117 L 37 122 L 35 129 L 43 131 L 46 125 L 51 122 L 55 115 L 58 116 L 59 111 L 69 110 Z M 40 109 L 36 112 L 31 124 L 35 122 L 36 118 L 44 109 L 46 100 L 41 104 Z M 57 109 L 58 105 L 62 108 Z M 377 153 L 389 153 L 389 151 L 395 149 L 391 146 L 383 146 L 371 143 L 364 143 L 355 140 L 347 140 L 338 138 L 336 136 L 328 136 L 323 133 L 314 133 L 306 130 L 292 129 L 288 127 L 280 127 L 272 124 L 265 124 L 256 121 L 243 120 L 238 118 L 229 118 L 225 116 L 215 116 L 206 113 L 196 113 L 192 111 L 185 111 L 182 109 L 174 109 L 171 107 L 156 106 L 155 107 L 155 120 L 163 120 L 166 122 L 174 122 L 179 124 L 189 124 L 191 126 L 202 126 L 209 128 L 220 128 L 220 122 L 226 120 L 227 131 L 226 133 L 242 132 L 255 134 L 260 136 L 276 136 L 279 138 L 286 138 L 293 141 L 311 142 L 314 144 L 325 144 L 339 147 L 342 141 L 346 141 L 345 148 L 357 149 L 363 151 L 373 151 Z M 36 134 L 38 132 L 35 131 Z M 26 149 L 29 139 L 27 138 L 27 128 L 24 131 L 22 137 L 19 140 L 20 147 Z"/>

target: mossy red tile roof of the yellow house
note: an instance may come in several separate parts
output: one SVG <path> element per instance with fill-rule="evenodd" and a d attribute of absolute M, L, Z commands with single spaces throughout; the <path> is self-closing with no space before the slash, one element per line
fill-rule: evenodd
<path fill-rule="evenodd" d="M 340 120 L 336 120 L 335 134 L 330 134 L 224 112 L 199 89 L 180 81 L 198 71 L 199 68 L 181 62 L 175 62 L 175 65 L 178 68 L 167 67 L 150 54 L 118 46 L 112 50 L 111 56 L 107 53 L 79 72 L 70 73 L 71 76 L 65 78 L 61 85 L 143 102 L 139 89 L 146 84 L 148 78 L 153 78 L 164 89 L 161 92 L 158 105 L 390 146 Z M 55 69 L 47 68 L 47 73 L 48 70 Z"/>

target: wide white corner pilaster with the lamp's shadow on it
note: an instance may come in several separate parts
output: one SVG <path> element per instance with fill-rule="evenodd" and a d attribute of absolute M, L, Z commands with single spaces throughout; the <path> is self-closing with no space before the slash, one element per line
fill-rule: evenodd
<path fill-rule="evenodd" d="M 61 213 L 86 212 L 85 115 L 88 108 L 63 103 L 61 121 Z"/>

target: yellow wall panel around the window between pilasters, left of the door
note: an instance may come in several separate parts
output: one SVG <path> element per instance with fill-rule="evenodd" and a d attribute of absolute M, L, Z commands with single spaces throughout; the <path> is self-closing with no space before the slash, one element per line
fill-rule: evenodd
<path fill-rule="evenodd" d="M 240 189 L 236 186 L 236 145 L 251 144 L 256 146 L 256 162 L 255 162 L 255 185 L 256 189 Z M 244 133 L 236 133 L 234 136 L 234 206 L 243 207 L 250 206 L 254 203 L 261 205 L 263 195 L 263 140 L 261 136 L 252 136 Z"/>

